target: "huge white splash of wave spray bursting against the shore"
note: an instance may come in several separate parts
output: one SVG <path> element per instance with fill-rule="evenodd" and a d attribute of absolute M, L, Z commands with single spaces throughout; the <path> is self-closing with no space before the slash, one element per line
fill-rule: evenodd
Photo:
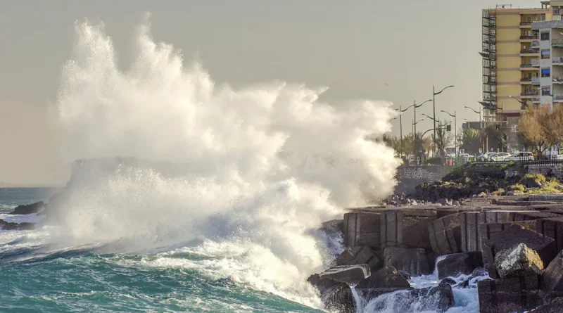
<path fill-rule="evenodd" d="M 147 26 L 120 70 L 101 25 L 75 30 L 58 94 L 66 160 L 134 157 L 182 171 L 86 162 L 58 203 L 65 240 L 184 246 L 211 258 L 203 272 L 318 305 L 305 279 L 328 252 L 311 229 L 393 190 L 398 160 L 368 140 L 390 129 L 389 103 L 329 106 L 324 89 L 283 82 L 217 87 Z M 155 262 L 177 264 L 168 257 Z"/>

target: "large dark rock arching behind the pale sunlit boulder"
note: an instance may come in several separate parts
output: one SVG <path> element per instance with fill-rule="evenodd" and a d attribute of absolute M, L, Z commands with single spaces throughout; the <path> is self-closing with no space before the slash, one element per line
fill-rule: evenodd
<path fill-rule="evenodd" d="M 495 260 L 495 255 L 499 251 L 512 248 L 519 243 L 524 243 L 528 248 L 535 250 L 543 264 L 549 264 L 557 254 L 555 241 L 552 238 L 542 236 L 536 231 L 524 229 L 519 225 L 511 225 L 483 243 L 483 257 L 486 260 Z M 490 262 L 488 269 L 491 278 L 498 278 L 495 267 Z"/>

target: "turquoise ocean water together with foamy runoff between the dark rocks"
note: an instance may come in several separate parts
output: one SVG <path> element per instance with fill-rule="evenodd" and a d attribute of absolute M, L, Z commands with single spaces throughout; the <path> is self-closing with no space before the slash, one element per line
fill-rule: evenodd
<path fill-rule="evenodd" d="M 48 200 L 53 189 L 0 189 L 6 207 Z M 5 215 L 15 222 L 41 219 L 34 215 Z M 267 284 L 251 283 L 246 276 L 265 279 L 245 267 L 243 243 L 230 250 L 213 241 L 184 243 L 181 247 L 110 253 L 124 242 L 79 246 L 53 244 L 55 226 L 34 231 L 0 231 L 0 312 L 323 312 L 315 297 L 284 298 Z M 267 254 L 267 253 L 265 253 Z M 274 264 L 262 264 L 262 266 Z M 262 269 L 263 270 L 263 269 Z M 273 273 L 272 273 L 273 274 Z M 456 307 L 448 313 L 477 313 L 476 282 L 454 288 Z M 467 279 L 459 276 L 457 282 Z M 412 286 L 439 283 L 437 273 L 413 277 Z M 296 282 L 295 288 L 299 283 Z M 428 299 L 401 305 L 403 292 L 360 300 L 363 313 L 431 313 L 421 310 Z"/>

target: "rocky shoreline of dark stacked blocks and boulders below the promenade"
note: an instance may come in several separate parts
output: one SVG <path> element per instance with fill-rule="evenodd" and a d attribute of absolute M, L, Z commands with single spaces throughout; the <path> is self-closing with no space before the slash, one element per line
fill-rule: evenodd
<path fill-rule="evenodd" d="M 417 305 L 445 312 L 455 306 L 452 287 L 470 288 L 469 281 L 477 282 L 480 313 L 551 312 L 563 301 L 563 203 L 483 196 L 358 207 L 324 231 L 341 232 L 346 250 L 308 281 L 337 312 L 398 290 L 404 309 L 422 297 L 432 301 Z M 433 272 L 438 286 L 407 281 Z M 460 274 L 467 279 L 450 278 Z"/>

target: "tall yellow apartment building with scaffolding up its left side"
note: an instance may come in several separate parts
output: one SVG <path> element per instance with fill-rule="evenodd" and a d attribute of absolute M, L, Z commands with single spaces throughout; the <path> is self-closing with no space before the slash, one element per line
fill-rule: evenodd
<path fill-rule="evenodd" d="M 551 19 L 549 1 L 540 8 L 505 4 L 483 10 L 483 120 L 504 122 L 508 146 L 517 145 L 522 103 L 540 97 L 540 37 L 532 25 Z"/>

